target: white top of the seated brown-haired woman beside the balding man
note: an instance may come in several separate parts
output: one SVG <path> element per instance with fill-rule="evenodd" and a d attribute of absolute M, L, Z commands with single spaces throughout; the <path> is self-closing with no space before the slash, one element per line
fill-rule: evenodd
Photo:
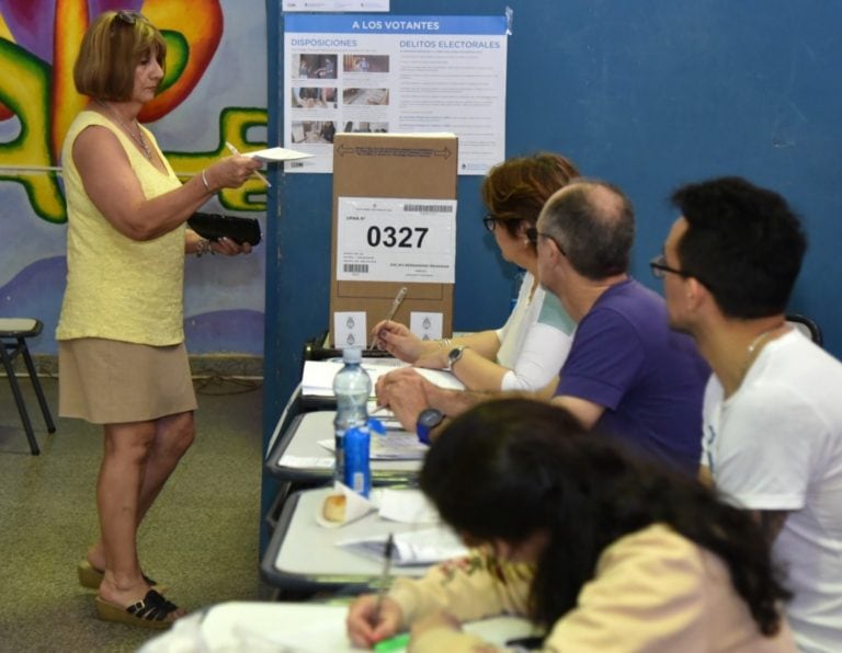
<path fill-rule="evenodd" d="M 558 298 L 541 286 L 530 298 L 534 282 L 524 273 L 517 302 L 497 331 L 497 363 L 510 370 L 501 390 L 541 390 L 558 376 L 570 352 L 576 323 Z"/>

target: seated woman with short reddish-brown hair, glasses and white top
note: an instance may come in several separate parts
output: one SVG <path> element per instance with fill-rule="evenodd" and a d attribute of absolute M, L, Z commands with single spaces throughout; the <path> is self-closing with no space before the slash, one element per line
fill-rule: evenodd
<path fill-rule="evenodd" d="M 469 390 L 523 390 L 551 394 L 570 350 L 573 321 L 537 279 L 535 224 L 544 203 L 579 176 L 572 162 L 541 152 L 509 159 L 482 183 L 489 214 L 482 219 L 503 259 L 525 273 L 517 301 L 500 329 L 424 341 L 406 325 L 375 325 L 375 345 L 418 367 L 451 369 Z"/>

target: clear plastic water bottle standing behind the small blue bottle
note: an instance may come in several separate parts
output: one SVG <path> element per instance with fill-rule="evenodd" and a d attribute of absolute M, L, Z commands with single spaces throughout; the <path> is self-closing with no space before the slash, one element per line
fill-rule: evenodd
<path fill-rule="evenodd" d="M 344 367 L 333 377 L 333 394 L 337 397 L 337 416 L 333 419 L 337 462 L 333 479 L 345 482 L 345 433 L 357 426 L 368 433 L 368 397 L 372 379 L 363 369 L 363 351 L 342 350 Z"/>

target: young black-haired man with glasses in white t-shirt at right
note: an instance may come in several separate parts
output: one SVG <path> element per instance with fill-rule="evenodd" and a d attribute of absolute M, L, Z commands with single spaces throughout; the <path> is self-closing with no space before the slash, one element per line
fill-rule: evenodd
<path fill-rule="evenodd" d="M 738 177 L 676 191 L 652 260 L 670 324 L 710 364 L 703 478 L 755 513 L 794 597 L 800 651 L 842 646 L 842 364 L 792 329 L 806 250 L 786 201 Z"/>

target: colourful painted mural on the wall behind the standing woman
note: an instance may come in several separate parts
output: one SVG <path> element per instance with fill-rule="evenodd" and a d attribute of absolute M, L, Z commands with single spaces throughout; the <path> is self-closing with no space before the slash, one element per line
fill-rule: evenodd
<path fill-rule="evenodd" d="M 89 22 L 111 9 L 141 11 L 167 39 L 167 77 L 139 119 L 180 176 L 227 156 L 226 141 L 266 145 L 263 0 L 0 0 L 0 317 L 41 319 L 36 353 L 57 351 L 67 222 L 58 157 L 86 103 L 72 66 Z M 264 215 L 265 201 L 255 179 L 204 210 Z M 264 253 L 186 262 L 192 353 L 262 354 Z"/>

